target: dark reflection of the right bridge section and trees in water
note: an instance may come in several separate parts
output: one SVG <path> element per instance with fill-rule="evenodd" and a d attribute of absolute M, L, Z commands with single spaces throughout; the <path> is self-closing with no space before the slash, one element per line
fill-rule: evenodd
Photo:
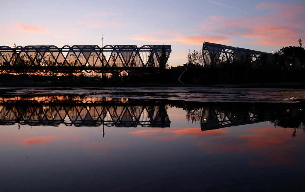
<path fill-rule="evenodd" d="M 202 131 L 265 121 L 304 129 L 305 123 L 305 106 L 300 103 L 218 103 L 206 104 L 201 110 Z"/>

